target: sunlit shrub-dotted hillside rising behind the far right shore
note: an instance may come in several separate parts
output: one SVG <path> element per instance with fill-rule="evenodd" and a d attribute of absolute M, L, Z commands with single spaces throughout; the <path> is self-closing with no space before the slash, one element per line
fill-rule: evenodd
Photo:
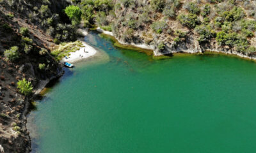
<path fill-rule="evenodd" d="M 256 52 L 254 1 L 83 0 L 78 4 L 82 11 L 94 9 L 94 16 L 85 10 L 83 15 L 95 17 L 94 22 L 113 31 L 120 42 L 152 45 L 155 55 L 212 50 L 254 56 Z M 110 9 L 103 9 L 106 6 Z"/>

